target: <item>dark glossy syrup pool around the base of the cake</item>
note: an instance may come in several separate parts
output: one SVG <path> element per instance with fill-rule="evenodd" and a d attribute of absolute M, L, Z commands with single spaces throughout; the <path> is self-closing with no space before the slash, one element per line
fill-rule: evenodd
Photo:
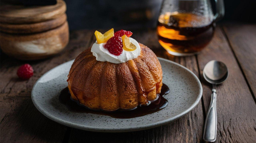
<path fill-rule="evenodd" d="M 59 101 L 60 101 L 60 103 L 66 105 L 67 108 L 73 112 L 93 113 L 93 114 L 110 116 L 112 118 L 128 119 L 128 118 L 135 118 L 135 117 L 152 114 L 152 113 L 158 112 L 161 109 L 165 108 L 168 105 L 168 101 L 164 98 L 164 96 L 166 94 L 168 94 L 169 92 L 170 92 L 170 89 L 165 84 L 163 84 L 162 88 L 161 88 L 161 93 L 157 94 L 157 96 L 158 96 L 157 100 L 151 101 L 149 105 L 138 106 L 138 107 L 134 108 L 133 110 L 117 110 L 114 112 L 91 110 L 91 109 L 81 105 L 79 102 L 71 99 L 71 95 L 69 93 L 68 87 L 64 88 L 61 91 L 61 93 L 59 95 Z"/>

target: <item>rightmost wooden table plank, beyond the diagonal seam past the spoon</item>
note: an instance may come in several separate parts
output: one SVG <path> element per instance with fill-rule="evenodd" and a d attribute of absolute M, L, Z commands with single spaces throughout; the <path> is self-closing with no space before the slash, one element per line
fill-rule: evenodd
<path fill-rule="evenodd" d="M 256 24 L 224 24 L 224 31 L 256 96 Z"/>

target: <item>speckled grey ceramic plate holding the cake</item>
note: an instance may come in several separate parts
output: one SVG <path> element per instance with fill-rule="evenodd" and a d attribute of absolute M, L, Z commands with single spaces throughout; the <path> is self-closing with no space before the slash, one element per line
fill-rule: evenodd
<path fill-rule="evenodd" d="M 181 118 L 200 101 L 203 93 L 197 76 L 187 68 L 159 58 L 163 83 L 170 88 L 165 96 L 169 104 L 159 112 L 131 119 L 71 112 L 59 102 L 60 91 L 67 87 L 67 75 L 74 60 L 45 73 L 32 89 L 35 107 L 46 117 L 60 124 L 96 132 L 128 132 L 157 127 Z"/>

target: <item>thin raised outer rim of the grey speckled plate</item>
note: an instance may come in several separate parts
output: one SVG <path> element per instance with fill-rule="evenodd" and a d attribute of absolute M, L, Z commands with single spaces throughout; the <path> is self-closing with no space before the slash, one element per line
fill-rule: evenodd
<path fill-rule="evenodd" d="M 40 106 L 38 106 L 35 102 L 35 99 L 34 99 L 34 92 L 36 92 L 34 89 L 34 87 L 37 86 L 38 84 L 38 81 L 40 81 L 41 78 L 44 78 L 44 75 L 46 75 L 47 73 L 51 72 L 52 70 L 58 68 L 59 66 L 62 66 L 63 64 L 66 64 L 67 62 L 63 63 L 63 64 L 60 64 L 58 66 L 56 66 L 55 68 L 51 69 L 50 71 L 47 71 L 45 74 L 43 74 L 37 81 L 36 83 L 34 84 L 33 86 L 33 89 L 32 89 L 32 92 L 31 92 L 31 98 L 32 98 L 32 102 L 34 104 L 34 106 L 37 108 L 37 110 L 39 112 L 41 112 L 44 116 L 46 116 L 47 118 L 57 122 L 57 123 L 60 123 L 62 125 L 66 125 L 66 126 L 69 126 L 69 127 L 72 127 L 72 128 L 77 128 L 77 129 L 81 129 L 81 130 L 86 130 L 86 131 L 93 131 L 93 132 L 131 132 L 131 131 L 139 131 L 139 130 L 146 130 L 146 129 L 150 129 L 150 128 L 154 128 L 154 127 L 158 127 L 158 126 L 161 126 L 161 125 L 164 125 L 164 124 L 167 124 L 167 123 L 170 123 L 172 121 L 175 121 L 181 117 L 183 117 L 185 114 L 187 114 L 189 111 L 191 111 L 193 108 L 196 107 L 196 105 L 199 103 L 199 101 L 201 100 L 202 98 L 202 95 L 203 95 L 203 87 L 202 87 L 202 84 L 200 82 L 200 80 L 198 79 L 198 77 L 192 72 L 190 71 L 189 69 L 187 69 L 186 67 L 178 64 L 178 63 L 175 63 L 173 61 L 170 61 L 170 60 L 167 60 L 167 59 L 164 59 L 164 58 L 161 58 L 161 57 L 158 57 L 159 60 L 163 60 L 163 61 L 167 61 L 167 62 L 170 62 L 172 64 L 175 64 L 179 67 L 181 67 L 182 69 L 188 71 L 191 73 L 192 76 L 194 76 L 194 78 L 197 80 L 197 83 L 199 85 L 199 95 L 198 97 L 196 98 L 196 101 L 188 108 L 186 109 L 185 111 L 181 112 L 180 114 L 172 117 L 172 118 L 169 118 L 169 119 L 165 119 L 165 120 L 162 120 L 162 121 L 158 121 L 156 123 L 150 123 L 150 124 L 147 124 L 147 125 L 141 125 L 141 126 L 136 126 L 136 127 L 127 127 L 127 128 L 108 128 L 108 127 L 93 127 L 93 126 L 86 126 L 86 125 L 81 125 L 81 124 L 76 124 L 76 123 L 73 123 L 73 122 L 69 122 L 69 121 L 66 121 L 66 120 L 63 120 L 63 119 L 59 119 L 59 118 L 56 118 L 55 116 L 47 113 L 44 111 L 43 108 L 41 108 Z M 68 62 L 71 62 L 71 61 L 74 61 L 74 60 L 70 60 Z"/>

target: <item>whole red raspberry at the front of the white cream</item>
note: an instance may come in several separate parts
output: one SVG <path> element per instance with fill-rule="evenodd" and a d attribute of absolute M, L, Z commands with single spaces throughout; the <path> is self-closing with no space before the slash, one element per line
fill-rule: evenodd
<path fill-rule="evenodd" d="M 114 36 L 107 41 L 104 47 L 108 49 L 109 53 L 119 56 L 123 52 L 122 38 Z"/>

